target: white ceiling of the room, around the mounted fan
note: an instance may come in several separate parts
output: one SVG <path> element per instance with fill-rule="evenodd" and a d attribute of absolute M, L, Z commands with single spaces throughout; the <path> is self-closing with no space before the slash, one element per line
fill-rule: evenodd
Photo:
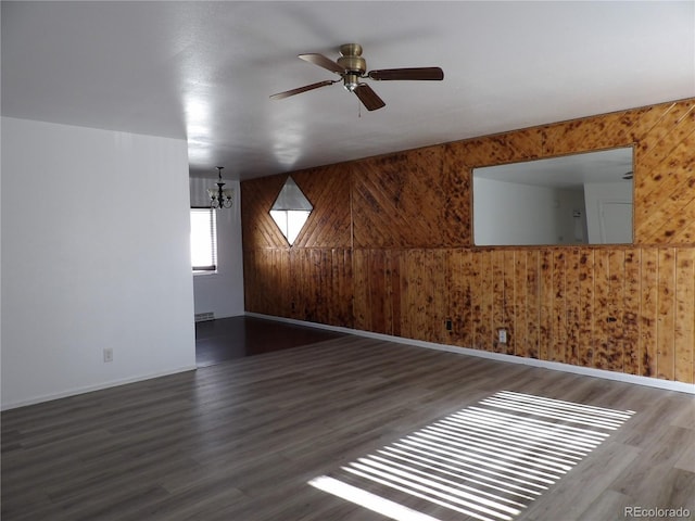
<path fill-rule="evenodd" d="M 695 3 L 2 2 L 2 114 L 186 138 L 193 176 L 249 179 L 695 96 Z M 364 47 L 359 109 L 296 54 Z"/>

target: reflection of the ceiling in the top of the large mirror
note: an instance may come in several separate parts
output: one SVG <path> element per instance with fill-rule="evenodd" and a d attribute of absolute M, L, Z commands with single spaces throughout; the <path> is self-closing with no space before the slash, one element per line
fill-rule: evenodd
<path fill-rule="evenodd" d="M 632 173 L 632 147 L 488 166 L 475 173 L 483 179 L 558 189 L 620 182 Z"/>

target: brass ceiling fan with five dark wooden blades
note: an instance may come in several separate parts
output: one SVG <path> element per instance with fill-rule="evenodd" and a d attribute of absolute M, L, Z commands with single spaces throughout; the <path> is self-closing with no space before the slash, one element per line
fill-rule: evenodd
<path fill-rule="evenodd" d="M 305 85 L 285 92 L 278 92 L 270 97 L 271 100 L 281 100 L 290 96 L 300 94 L 308 90 L 327 87 L 342 81 L 350 92 L 354 92 L 368 111 L 376 111 L 386 106 L 386 103 L 367 84 L 361 81 L 369 78 L 377 81 L 415 79 L 415 80 L 442 80 L 444 72 L 440 67 L 410 67 L 410 68 L 383 68 L 381 71 L 367 72 L 367 62 L 362 58 L 362 46 L 358 43 L 345 43 L 340 46 L 340 58 L 333 62 L 318 53 L 300 54 L 300 59 L 324 67 L 340 76 L 340 79 L 326 79 L 312 85 Z"/>

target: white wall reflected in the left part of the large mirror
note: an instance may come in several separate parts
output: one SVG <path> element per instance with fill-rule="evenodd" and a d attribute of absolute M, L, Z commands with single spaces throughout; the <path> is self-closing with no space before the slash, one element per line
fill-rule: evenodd
<path fill-rule="evenodd" d="M 577 243 L 572 211 L 583 208 L 581 191 L 476 178 L 473 241 L 477 245 Z"/>

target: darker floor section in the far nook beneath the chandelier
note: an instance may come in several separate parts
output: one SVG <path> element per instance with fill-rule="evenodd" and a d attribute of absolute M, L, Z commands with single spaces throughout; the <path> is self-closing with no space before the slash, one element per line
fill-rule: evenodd
<path fill-rule="evenodd" d="M 340 336 L 342 334 L 332 331 L 255 317 L 208 320 L 195 323 L 195 364 L 212 366 Z"/>

